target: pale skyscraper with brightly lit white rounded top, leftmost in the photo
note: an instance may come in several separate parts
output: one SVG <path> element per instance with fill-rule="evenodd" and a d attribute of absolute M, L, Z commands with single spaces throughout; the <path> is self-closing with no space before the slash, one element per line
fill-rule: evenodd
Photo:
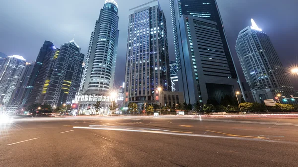
<path fill-rule="evenodd" d="M 0 70 L 0 104 L 8 104 L 25 67 L 26 60 L 19 55 L 5 58 Z"/>

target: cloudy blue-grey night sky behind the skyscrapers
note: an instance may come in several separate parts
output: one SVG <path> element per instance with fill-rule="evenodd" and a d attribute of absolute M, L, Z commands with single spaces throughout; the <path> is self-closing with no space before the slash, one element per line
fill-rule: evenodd
<path fill-rule="evenodd" d="M 72 40 L 86 54 L 91 32 L 105 0 L 0 0 L 0 52 L 36 59 L 44 40 L 56 46 Z M 116 84 L 124 82 L 128 11 L 150 0 L 116 0 L 119 8 L 119 50 Z M 167 17 L 170 60 L 174 60 L 169 0 L 159 0 Z M 237 70 L 235 53 L 240 30 L 254 18 L 270 37 L 284 67 L 298 65 L 298 0 L 217 0 Z M 298 89 L 298 77 L 292 82 Z"/>

